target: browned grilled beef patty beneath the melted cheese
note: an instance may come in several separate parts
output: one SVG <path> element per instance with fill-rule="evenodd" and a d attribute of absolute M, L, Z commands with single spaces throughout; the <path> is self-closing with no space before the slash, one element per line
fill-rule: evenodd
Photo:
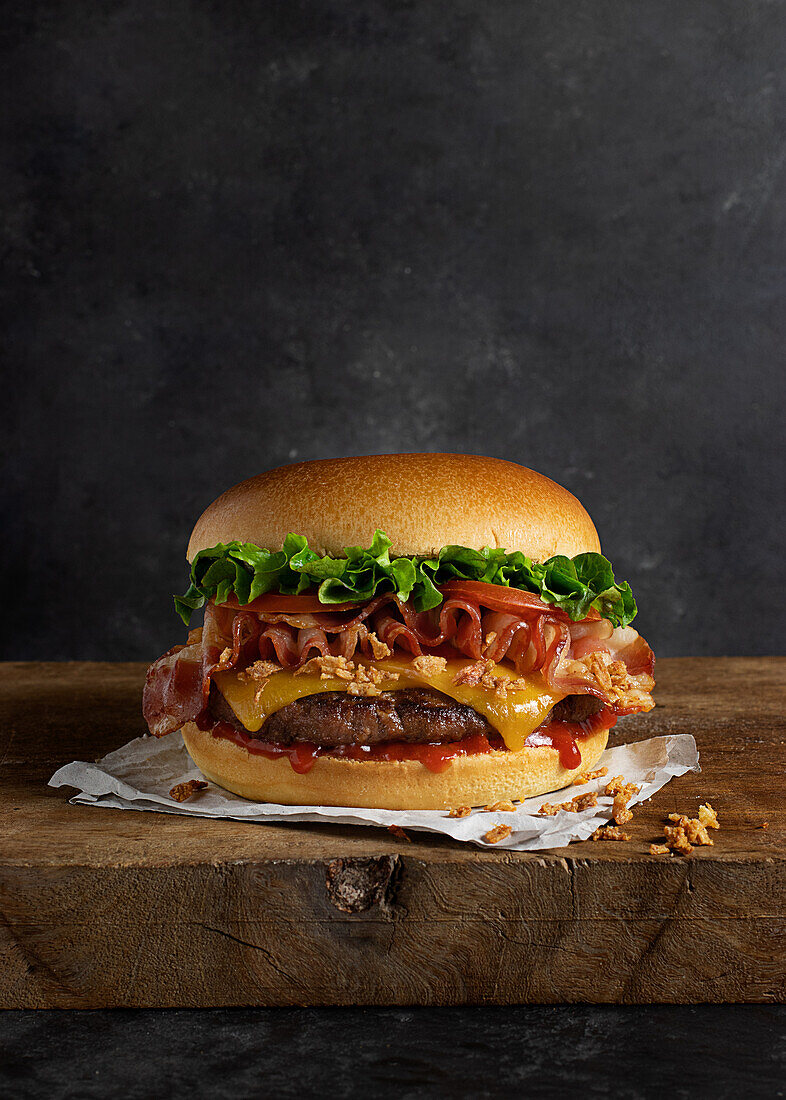
<path fill-rule="evenodd" d="M 550 717 L 582 722 L 601 706 L 591 695 L 568 695 L 554 706 Z M 474 734 L 495 733 L 486 718 L 471 706 L 427 688 L 407 688 L 372 696 L 347 695 L 340 691 L 307 695 L 272 714 L 256 734 L 245 729 L 214 684 L 210 690 L 210 710 L 215 718 L 250 737 L 279 745 L 292 741 L 309 741 L 323 748 L 381 741 L 444 745 Z"/>

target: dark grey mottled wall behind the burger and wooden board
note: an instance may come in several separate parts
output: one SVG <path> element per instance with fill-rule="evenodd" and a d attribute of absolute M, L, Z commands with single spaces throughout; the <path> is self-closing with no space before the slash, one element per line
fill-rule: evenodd
<path fill-rule="evenodd" d="M 778 651 L 784 3 L 2 8 L 3 656 L 152 658 L 221 490 L 421 449 Z"/>

